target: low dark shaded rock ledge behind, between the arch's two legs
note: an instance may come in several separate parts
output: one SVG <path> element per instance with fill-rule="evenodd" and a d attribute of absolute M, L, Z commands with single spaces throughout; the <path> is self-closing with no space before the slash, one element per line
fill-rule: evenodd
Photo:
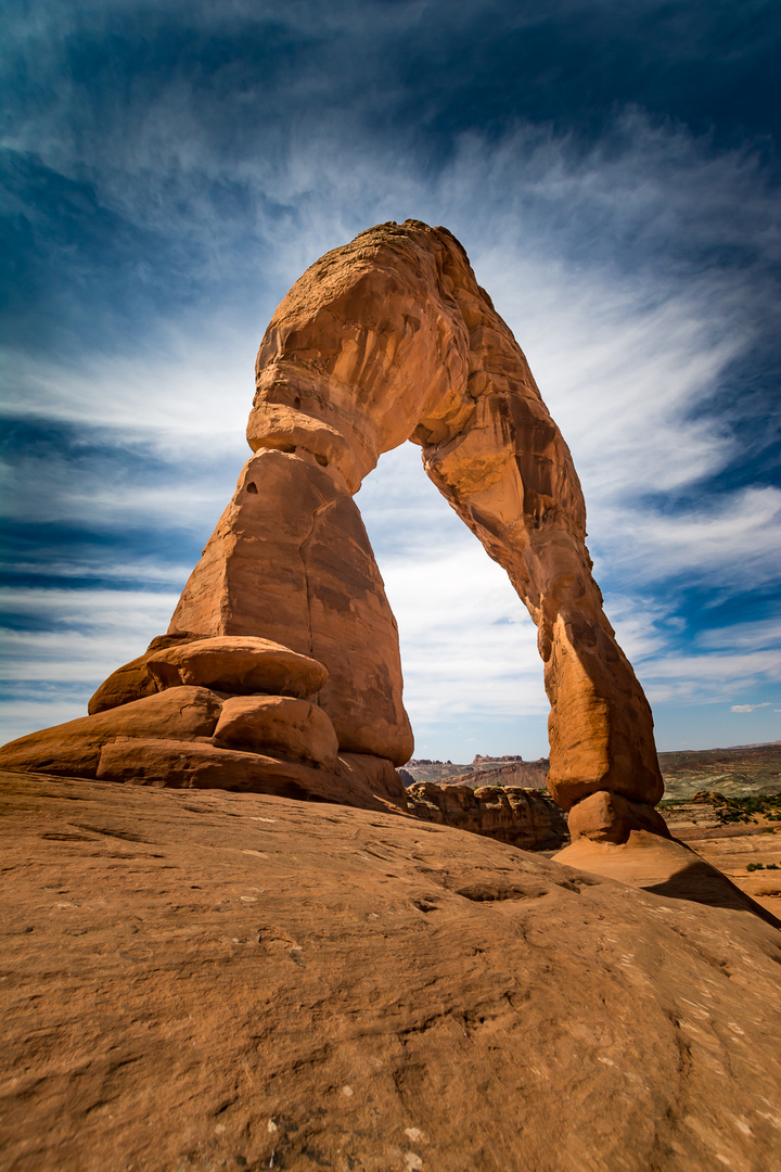
<path fill-rule="evenodd" d="M 567 819 L 550 798 L 507 785 L 437 785 L 423 782 L 406 791 L 406 808 L 416 818 L 440 826 L 511 843 L 522 851 L 556 850 L 568 840 Z"/>

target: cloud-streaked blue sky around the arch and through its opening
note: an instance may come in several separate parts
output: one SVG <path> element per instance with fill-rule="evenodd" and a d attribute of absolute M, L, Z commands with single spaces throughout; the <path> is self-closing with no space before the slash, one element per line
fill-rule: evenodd
<path fill-rule="evenodd" d="M 328 248 L 444 224 L 567 438 L 660 749 L 781 718 L 777 6 L 15 4 L 2 49 L 2 738 L 162 633 Z M 535 633 L 426 481 L 358 496 L 419 756 L 547 751 Z"/>

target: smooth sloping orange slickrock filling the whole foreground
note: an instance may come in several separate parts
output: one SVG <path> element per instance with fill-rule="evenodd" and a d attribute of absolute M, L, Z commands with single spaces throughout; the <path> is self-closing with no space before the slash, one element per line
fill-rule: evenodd
<path fill-rule="evenodd" d="M 370 811 L 1 785 L 8 1172 L 779 1167 L 749 909 Z"/>

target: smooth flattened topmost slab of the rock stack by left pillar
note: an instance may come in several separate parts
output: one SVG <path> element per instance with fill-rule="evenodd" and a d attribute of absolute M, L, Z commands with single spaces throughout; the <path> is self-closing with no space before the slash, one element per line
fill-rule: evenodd
<path fill-rule="evenodd" d="M 224 635 L 171 647 L 148 656 L 146 669 L 160 689 L 184 683 L 237 695 L 311 696 L 328 679 L 328 669 L 316 660 L 254 636 Z"/>

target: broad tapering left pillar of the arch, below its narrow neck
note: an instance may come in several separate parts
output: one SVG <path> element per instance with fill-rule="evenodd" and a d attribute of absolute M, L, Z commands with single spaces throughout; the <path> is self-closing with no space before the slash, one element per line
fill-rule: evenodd
<path fill-rule="evenodd" d="M 314 457 L 247 462 L 171 620 L 171 634 L 191 631 L 262 635 L 318 660 L 340 747 L 409 761 L 396 620 L 357 505 Z"/>

